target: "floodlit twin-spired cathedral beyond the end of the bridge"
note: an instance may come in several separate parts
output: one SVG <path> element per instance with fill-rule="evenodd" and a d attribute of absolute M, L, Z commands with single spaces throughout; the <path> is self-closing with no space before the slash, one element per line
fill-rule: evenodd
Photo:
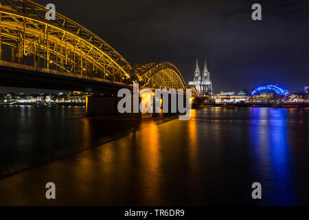
<path fill-rule="evenodd" d="M 210 73 L 208 72 L 206 61 L 204 64 L 203 74 L 201 78 L 201 72 L 198 68 L 198 60 L 196 59 L 196 67 L 194 72 L 194 80 L 189 82 L 189 85 L 195 85 L 198 90 L 198 94 L 203 96 L 206 94 L 212 94 L 212 85 L 210 80 Z"/>

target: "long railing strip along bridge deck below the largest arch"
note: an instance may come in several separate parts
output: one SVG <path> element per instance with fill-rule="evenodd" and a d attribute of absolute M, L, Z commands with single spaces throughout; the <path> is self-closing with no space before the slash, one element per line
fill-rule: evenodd
<path fill-rule="evenodd" d="M 73 74 L 73 73 L 69 73 L 69 72 L 60 72 L 60 71 L 57 71 L 57 70 L 54 70 L 54 69 L 34 67 L 34 66 L 30 66 L 30 65 L 24 65 L 24 64 L 20 64 L 20 63 L 12 63 L 12 62 L 8 62 L 8 61 L 0 61 L 0 66 L 1 67 L 11 67 L 11 68 L 14 68 L 14 69 L 26 69 L 26 70 L 30 70 L 30 71 L 33 71 L 33 72 L 41 72 L 41 73 L 53 74 L 53 75 L 57 75 L 57 76 L 67 76 L 67 77 L 79 78 L 79 79 L 83 79 L 83 80 L 92 80 L 92 81 L 98 81 L 98 82 L 102 82 L 102 83 L 111 83 L 111 84 L 115 84 L 115 85 L 133 87 L 133 85 L 126 84 L 126 83 L 120 83 L 120 82 L 113 81 L 113 80 L 106 80 L 106 79 L 103 79 L 103 78 L 97 78 L 97 77 L 93 77 L 93 76 L 85 76 L 85 75 L 82 75 L 82 74 Z"/>

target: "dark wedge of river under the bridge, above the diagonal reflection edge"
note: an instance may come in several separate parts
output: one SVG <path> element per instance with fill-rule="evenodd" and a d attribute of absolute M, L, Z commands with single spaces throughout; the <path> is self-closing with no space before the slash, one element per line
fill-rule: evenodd
<path fill-rule="evenodd" d="M 0 106 L 0 178 L 109 142 L 137 120 L 85 118 L 84 107 Z"/>

